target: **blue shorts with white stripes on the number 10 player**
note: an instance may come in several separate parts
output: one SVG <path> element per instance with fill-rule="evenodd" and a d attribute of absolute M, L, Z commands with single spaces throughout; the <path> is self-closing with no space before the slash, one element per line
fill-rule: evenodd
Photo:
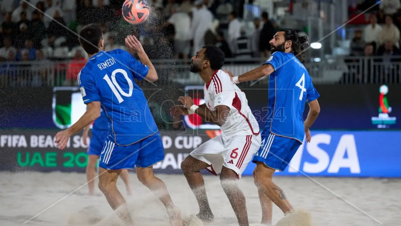
<path fill-rule="evenodd" d="M 99 167 L 108 170 L 147 168 L 164 160 L 164 148 L 159 132 L 134 144 L 119 146 L 111 141 L 111 136 L 103 146 Z"/>

